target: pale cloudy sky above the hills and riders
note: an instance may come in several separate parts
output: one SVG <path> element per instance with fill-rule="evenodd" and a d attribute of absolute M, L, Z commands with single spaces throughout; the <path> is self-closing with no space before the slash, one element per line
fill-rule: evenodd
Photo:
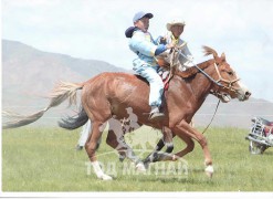
<path fill-rule="evenodd" d="M 125 30 L 143 10 L 154 14 L 149 32 L 185 20 L 182 39 L 197 63 L 202 45 L 227 61 L 255 98 L 273 102 L 273 1 L 271 0 L 2 0 L 2 39 L 41 51 L 101 60 L 130 70 L 136 55 Z"/>

